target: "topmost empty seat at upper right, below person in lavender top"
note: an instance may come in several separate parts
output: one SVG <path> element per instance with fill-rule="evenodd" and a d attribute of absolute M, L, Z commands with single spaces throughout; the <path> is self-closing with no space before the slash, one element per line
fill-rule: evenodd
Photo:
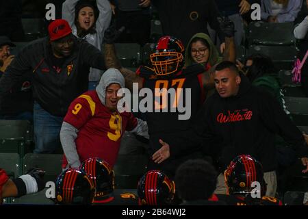
<path fill-rule="evenodd" d="M 248 44 L 267 46 L 291 46 L 295 44 L 293 22 L 252 22 L 248 26 Z"/>

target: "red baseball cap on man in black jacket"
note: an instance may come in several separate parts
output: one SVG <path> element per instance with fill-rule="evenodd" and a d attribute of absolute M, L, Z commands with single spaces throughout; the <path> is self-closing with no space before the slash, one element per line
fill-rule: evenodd
<path fill-rule="evenodd" d="M 50 40 L 53 41 L 72 33 L 72 29 L 64 19 L 55 19 L 49 24 L 48 33 Z"/>

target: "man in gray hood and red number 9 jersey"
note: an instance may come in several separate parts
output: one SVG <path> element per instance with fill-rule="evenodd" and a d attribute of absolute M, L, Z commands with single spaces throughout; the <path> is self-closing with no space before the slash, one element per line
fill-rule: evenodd
<path fill-rule="evenodd" d="M 81 94 L 70 104 L 60 131 L 63 168 L 77 168 L 90 157 L 104 159 L 113 167 L 125 131 L 149 138 L 146 122 L 131 112 L 118 112 L 117 93 L 124 83 L 121 73 L 110 68 L 96 90 Z"/>

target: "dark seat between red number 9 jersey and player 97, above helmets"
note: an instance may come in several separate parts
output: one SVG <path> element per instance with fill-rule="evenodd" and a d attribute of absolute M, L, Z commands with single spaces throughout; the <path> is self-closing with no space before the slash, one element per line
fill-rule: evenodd
<path fill-rule="evenodd" d="M 136 189 L 147 162 L 146 155 L 118 155 L 114 165 L 116 189 Z"/>

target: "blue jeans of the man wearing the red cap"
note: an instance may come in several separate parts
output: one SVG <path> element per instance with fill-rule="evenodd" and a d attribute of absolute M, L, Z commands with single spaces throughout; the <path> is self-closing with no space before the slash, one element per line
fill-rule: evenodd
<path fill-rule="evenodd" d="M 60 129 L 64 117 L 53 116 L 34 103 L 34 153 L 53 153 L 61 146 Z"/>

